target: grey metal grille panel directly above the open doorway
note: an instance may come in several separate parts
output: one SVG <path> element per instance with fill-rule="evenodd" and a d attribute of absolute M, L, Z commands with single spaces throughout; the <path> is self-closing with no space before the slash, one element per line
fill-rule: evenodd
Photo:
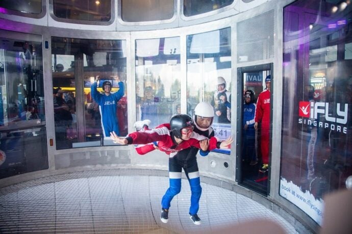
<path fill-rule="evenodd" d="M 274 57 L 274 11 L 237 23 L 237 63 Z"/>

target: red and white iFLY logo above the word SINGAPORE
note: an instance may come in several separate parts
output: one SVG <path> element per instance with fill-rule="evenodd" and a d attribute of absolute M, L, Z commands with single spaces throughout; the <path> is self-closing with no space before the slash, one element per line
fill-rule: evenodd
<path fill-rule="evenodd" d="M 346 124 L 348 104 L 336 103 L 335 107 L 329 102 L 299 102 L 298 115 L 310 119 L 318 119 L 318 114 L 325 117 L 328 122 Z M 343 108 L 341 108 L 343 107 Z"/>

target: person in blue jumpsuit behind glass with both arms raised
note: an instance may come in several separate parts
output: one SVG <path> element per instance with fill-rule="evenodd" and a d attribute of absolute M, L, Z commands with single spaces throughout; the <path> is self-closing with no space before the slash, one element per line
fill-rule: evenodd
<path fill-rule="evenodd" d="M 95 82 L 90 87 L 90 93 L 93 100 L 99 104 L 100 115 L 102 116 L 102 128 L 104 138 L 110 136 L 110 132 L 115 132 L 117 135 L 120 134 L 118 127 L 118 120 L 116 118 L 116 106 L 117 102 L 121 99 L 124 94 L 123 82 L 120 81 L 118 76 L 115 76 L 118 81 L 119 90 L 116 93 L 111 93 L 111 82 L 103 82 L 104 94 L 100 94 L 96 89 L 99 83 L 99 76 L 96 77 Z"/>

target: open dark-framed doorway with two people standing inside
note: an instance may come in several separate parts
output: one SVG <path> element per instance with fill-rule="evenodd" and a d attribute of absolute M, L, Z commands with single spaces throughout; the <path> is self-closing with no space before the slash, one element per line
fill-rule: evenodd
<path fill-rule="evenodd" d="M 264 196 L 270 189 L 272 64 L 237 69 L 236 181 Z"/>

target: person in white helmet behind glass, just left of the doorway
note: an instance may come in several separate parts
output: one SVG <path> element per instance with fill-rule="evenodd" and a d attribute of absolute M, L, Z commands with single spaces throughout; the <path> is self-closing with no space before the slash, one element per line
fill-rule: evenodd
<path fill-rule="evenodd" d="M 214 94 L 212 105 L 215 114 L 218 116 L 218 123 L 231 122 L 231 108 L 225 103 L 230 102 L 230 91 L 226 90 L 226 81 L 223 77 L 217 77 L 217 91 Z"/>

